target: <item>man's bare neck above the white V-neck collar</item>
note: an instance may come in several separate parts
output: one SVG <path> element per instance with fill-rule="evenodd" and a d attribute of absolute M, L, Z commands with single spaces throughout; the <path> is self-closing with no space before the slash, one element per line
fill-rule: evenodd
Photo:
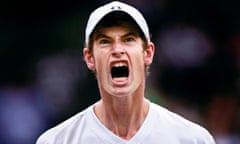
<path fill-rule="evenodd" d="M 99 120 L 115 135 L 124 139 L 130 139 L 136 134 L 149 109 L 144 97 L 129 99 L 119 98 L 111 102 L 101 100 L 95 106 Z"/>

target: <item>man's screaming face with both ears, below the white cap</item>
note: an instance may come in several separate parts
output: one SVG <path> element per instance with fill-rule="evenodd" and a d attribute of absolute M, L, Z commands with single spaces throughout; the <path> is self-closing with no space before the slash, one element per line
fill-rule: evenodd
<path fill-rule="evenodd" d="M 124 97 L 143 91 L 153 44 L 144 49 L 135 29 L 127 26 L 101 28 L 93 40 L 93 51 L 85 48 L 84 56 L 88 67 L 96 72 L 101 95 Z"/>

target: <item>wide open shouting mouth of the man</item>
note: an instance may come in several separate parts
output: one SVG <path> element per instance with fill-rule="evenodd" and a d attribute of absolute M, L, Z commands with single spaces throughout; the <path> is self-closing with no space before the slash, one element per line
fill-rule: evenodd
<path fill-rule="evenodd" d="M 128 77 L 129 69 L 128 65 L 124 62 L 114 63 L 111 68 L 112 78 Z"/>

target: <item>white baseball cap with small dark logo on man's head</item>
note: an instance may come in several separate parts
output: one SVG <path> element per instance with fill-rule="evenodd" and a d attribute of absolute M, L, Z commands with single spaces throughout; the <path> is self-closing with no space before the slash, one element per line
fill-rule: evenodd
<path fill-rule="evenodd" d="M 150 34 L 149 34 L 149 29 L 146 20 L 144 19 L 143 15 L 134 7 L 114 1 L 111 3 L 108 3 L 106 5 L 103 5 L 96 10 L 94 10 L 87 23 L 86 31 L 85 31 L 85 44 L 86 46 L 89 43 L 89 38 L 91 33 L 93 32 L 94 28 L 96 25 L 101 21 L 101 19 L 106 16 L 109 13 L 115 12 L 115 11 L 121 11 L 126 14 L 128 14 L 135 22 L 138 24 L 142 32 L 144 33 L 146 39 L 148 42 L 150 42 Z"/>

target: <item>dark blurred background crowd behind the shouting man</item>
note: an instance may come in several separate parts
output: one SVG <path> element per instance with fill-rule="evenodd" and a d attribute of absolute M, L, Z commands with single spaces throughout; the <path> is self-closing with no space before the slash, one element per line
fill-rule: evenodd
<path fill-rule="evenodd" d="M 99 99 L 82 48 L 88 14 L 108 1 L 6 2 L 0 20 L 1 144 L 33 144 Z M 217 144 L 240 143 L 240 3 L 125 2 L 143 12 L 156 47 L 146 96 L 206 127 Z"/>

